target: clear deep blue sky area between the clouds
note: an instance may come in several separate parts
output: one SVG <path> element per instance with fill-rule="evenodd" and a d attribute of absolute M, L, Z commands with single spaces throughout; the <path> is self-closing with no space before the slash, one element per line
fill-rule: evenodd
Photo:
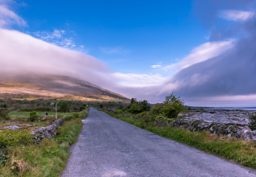
<path fill-rule="evenodd" d="M 104 61 L 114 72 L 170 72 L 151 68 L 172 64 L 207 42 L 209 35 L 192 12 L 192 1 L 23 1 L 19 31 L 65 31 L 72 50 Z M 49 42 L 54 43 L 56 39 Z M 61 45 L 60 45 L 61 46 Z M 82 46 L 82 47 L 81 47 Z"/>

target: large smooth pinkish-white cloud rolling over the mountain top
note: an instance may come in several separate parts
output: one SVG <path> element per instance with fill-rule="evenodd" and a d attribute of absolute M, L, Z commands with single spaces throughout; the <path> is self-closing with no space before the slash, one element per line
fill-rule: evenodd
<path fill-rule="evenodd" d="M 94 84 L 110 82 L 100 60 L 58 47 L 19 31 L 0 28 L 0 72 L 75 76 Z"/>

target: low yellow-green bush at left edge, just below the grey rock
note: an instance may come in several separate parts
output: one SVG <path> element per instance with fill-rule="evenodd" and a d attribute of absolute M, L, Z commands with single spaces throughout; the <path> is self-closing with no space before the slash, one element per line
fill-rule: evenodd
<path fill-rule="evenodd" d="M 25 130 L 0 130 L 0 147 L 27 145 L 32 142 L 32 135 Z"/>

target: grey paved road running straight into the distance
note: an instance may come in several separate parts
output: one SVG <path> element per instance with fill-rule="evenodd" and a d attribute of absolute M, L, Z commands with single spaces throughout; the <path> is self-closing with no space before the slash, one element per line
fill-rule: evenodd
<path fill-rule="evenodd" d="M 91 108 L 61 176 L 256 176 Z"/>

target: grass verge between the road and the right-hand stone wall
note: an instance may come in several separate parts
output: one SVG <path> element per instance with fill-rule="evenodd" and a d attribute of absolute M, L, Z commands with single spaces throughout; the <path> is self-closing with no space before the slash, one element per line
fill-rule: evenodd
<path fill-rule="evenodd" d="M 101 110 L 102 111 L 102 110 Z M 256 168 L 256 143 L 247 142 L 238 138 L 217 136 L 208 132 L 191 132 L 186 129 L 179 129 L 168 126 L 155 126 L 154 122 L 145 123 L 141 120 L 123 117 L 122 114 L 106 112 L 113 117 L 118 117 L 134 126 L 148 130 L 162 137 L 170 138 L 176 142 L 182 142 L 198 150 L 204 150 L 209 154 L 215 154 L 223 158 L 240 163 L 246 167 Z"/>

